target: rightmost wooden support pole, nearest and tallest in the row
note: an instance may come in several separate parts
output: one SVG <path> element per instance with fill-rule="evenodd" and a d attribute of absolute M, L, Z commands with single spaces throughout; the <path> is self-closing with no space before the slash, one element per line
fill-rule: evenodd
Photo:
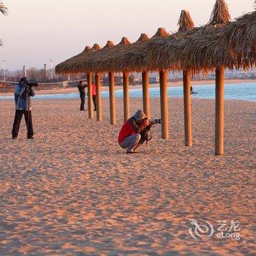
<path fill-rule="evenodd" d="M 215 154 L 224 154 L 224 80 L 225 68 L 216 69 L 215 87 Z"/>

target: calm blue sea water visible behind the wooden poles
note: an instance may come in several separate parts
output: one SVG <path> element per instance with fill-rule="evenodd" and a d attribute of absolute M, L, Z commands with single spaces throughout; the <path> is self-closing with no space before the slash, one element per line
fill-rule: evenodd
<path fill-rule="evenodd" d="M 132 88 L 132 86 L 131 86 Z M 215 85 L 193 86 L 193 98 L 215 99 Z M 149 89 L 150 97 L 159 97 L 159 87 Z M 108 97 L 108 91 L 102 91 L 102 97 Z M 182 86 L 170 86 L 168 88 L 169 97 L 183 97 Z M 116 97 L 123 97 L 123 91 L 117 90 Z M 130 89 L 129 97 L 142 97 L 142 89 Z M 34 99 L 75 99 L 79 98 L 78 94 L 40 94 Z M 0 99 L 13 99 L 13 97 L 2 97 Z M 256 101 L 256 83 L 229 83 L 225 85 L 225 99 Z"/>

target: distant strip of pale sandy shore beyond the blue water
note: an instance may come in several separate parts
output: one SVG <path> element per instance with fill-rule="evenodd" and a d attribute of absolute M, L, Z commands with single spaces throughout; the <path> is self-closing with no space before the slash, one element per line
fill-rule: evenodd
<path fill-rule="evenodd" d="M 208 86 L 208 85 L 212 85 L 215 84 L 215 80 L 202 80 L 202 81 L 192 81 L 192 86 Z M 252 80 L 252 79 L 231 79 L 231 80 L 225 80 L 225 84 L 230 84 L 230 83 L 256 83 L 256 80 Z M 176 83 L 173 82 L 169 82 L 167 83 L 168 87 L 178 87 L 178 86 L 182 86 L 183 82 L 182 81 L 178 81 Z M 159 87 L 159 83 L 151 83 L 149 85 L 150 88 L 156 88 Z M 142 85 L 138 84 L 135 86 L 130 86 L 129 89 L 141 89 Z M 115 86 L 115 90 L 122 90 L 123 86 Z M 59 89 L 45 89 L 45 90 L 35 90 L 37 94 L 76 94 L 78 93 L 78 89 L 76 87 L 69 87 L 69 88 L 59 88 Z M 108 91 L 108 86 L 102 86 L 102 91 Z M 1 93 L 0 92 L 0 96 L 1 97 L 5 97 L 5 96 L 12 96 L 13 93 L 12 92 L 4 92 Z"/>

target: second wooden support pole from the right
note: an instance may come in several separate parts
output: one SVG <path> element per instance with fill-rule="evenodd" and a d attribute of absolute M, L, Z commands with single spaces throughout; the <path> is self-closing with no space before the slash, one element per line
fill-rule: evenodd
<path fill-rule="evenodd" d="M 190 70 L 183 71 L 183 89 L 184 89 L 184 130 L 185 146 L 192 146 L 192 109 L 190 94 Z"/>

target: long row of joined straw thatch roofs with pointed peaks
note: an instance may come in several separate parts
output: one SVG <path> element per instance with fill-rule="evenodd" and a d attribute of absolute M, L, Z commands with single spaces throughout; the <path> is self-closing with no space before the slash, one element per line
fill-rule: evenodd
<path fill-rule="evenodd" d="M 230 22 L 227 4 L 224 0 L 217 0 L 206 26 L 194 28 L 189 13 L 181 11 L 176 34 L 170 35 L 165 29 L 159 29 L 151 39 L 144 34 L 133 44 L 123 37 L 116 46 L 109 42 L 102 50 L 67 60 L 69 66 L 66 70 L 143 72 L 192 69 L 193 72 L 207 72 L 221 66 L 230 69 L 254 67 L 255 15 L 252 12 Z"/>

